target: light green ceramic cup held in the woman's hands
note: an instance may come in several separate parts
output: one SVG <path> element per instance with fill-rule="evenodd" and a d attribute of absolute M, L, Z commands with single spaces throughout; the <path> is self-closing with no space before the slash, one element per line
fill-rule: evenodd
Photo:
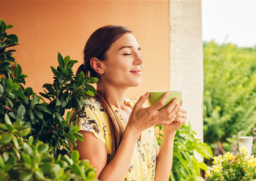
<path fill-rule="evenodd" d="M 166 93 L 166 91 L 149 91 L 149 94 L 150 94 L 149 98 L 148 98 L 149 105 L 152 106 L 153 104 L 158 102 L 163 97 L 164 93 Z M 167 99 L 164 106 L 162 108 L 160 108 L 159 110 L 167 108 L 167 106 L 171 103 L 171 101 L 173 101 L 173 99 L 175 97 L 178 97 L 177 104 L 180 104 L 181 103 L 181 95 L 182 95 L 181 91 L 170 91 L 169 98 Z"/>

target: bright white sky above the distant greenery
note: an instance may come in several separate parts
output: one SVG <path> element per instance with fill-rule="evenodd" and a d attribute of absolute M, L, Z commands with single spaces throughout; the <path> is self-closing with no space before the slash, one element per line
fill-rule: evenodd
<path fill-rule="evenodd" d="M 256 1 L 202 0 L 203 40 L 256 46 Z"/>

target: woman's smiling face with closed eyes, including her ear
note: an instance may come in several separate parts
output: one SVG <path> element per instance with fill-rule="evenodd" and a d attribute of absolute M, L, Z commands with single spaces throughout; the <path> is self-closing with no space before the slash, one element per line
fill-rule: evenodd
<path fill-rule="evenodd" d="M 136 87 L 141 83 L 143 60 L 140 46 L 130 33 L 112 43 L 107 60 L 102 61 L 105 83 L 121 87 Z"/>

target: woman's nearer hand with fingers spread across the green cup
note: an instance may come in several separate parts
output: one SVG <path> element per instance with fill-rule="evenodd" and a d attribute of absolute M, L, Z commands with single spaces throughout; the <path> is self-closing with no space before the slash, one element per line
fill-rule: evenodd
<path fill-rule="evenodd" d="M 177 104 L 178 98 L 174 98 L 167 108 L 158 111 L 167 101 L 170 92 L 167 91 L 156 104 L 148 108 L 142 108 L 144 102 L 148 99 L 149 93 L 142 95 L 134 105 L 130 114 L 126 129 L 130 129 L 134 134 L 141 134 L 142 131 L 153 125 L 169 125 L 175 119 L 175 113 L 180 105 Z"/>

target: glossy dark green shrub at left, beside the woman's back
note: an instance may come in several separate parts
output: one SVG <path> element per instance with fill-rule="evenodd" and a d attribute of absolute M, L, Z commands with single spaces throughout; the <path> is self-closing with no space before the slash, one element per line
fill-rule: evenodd
<path fill-rule="evenodd" d="M 58 53 L 58 67 L 50 67 L 54 82 L 43 84 L 44 93 L 36 95 L 25 88 L 27 75 L 13 57 L 19 40 L 6 33 L 12 27 L 0 19 L 0 181 L 96 180 L 89 161 L 68 149 L 68 139 L 75 147 L 75 139 L 83 136 L 76 125 L 68 127 L 69 113 L 64 114 L 96 94 L 90 83 L 98 79 L 83 72 L 75 76 L 72 67 L 78 61 Z"/>

